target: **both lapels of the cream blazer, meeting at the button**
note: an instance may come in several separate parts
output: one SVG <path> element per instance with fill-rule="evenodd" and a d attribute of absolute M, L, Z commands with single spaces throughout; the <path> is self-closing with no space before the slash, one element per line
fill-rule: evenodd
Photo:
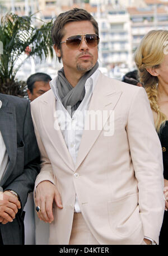
<path fill-rule="evenodd" d="M 104 89 L 104 85 L 106 85 L 106 89 Z M 43 124 L 43 129 L 45 130 L 46 136 L 48 136 L 49 142 L 53 144 L 59 156 L 63 159 L 63 161 L 71 170 L 76 170 L 80 166 L 81 162 L 85 159 L 88 152 L 91 150 L 91 147 L 94 145 L 97 137 L 99 137 L 99 134 L 104 128 L 104 125 L 108 122 L 108 119 L 116 104 L 118 103 L 121 95 L 122 91 L 116 92 L 115 86 L 111 85 L 111 80 L 109 80 L 108 77 L 100 75 L 100 78 L 95 86 L 95 90 L 91 99 L 87 115 L 90 115 L 90 111 L 97 113 L 97 110 L 100 113 L 103 113 L 101 129 L 88 129 L 90 122 L 88 118 L 86 118 L 86 129 L 84 129 L 82 134 L 75 166 L 72 157 L 68 151 L 66 142 L 64 141 L 63 134 L 59 129 L 58 120 L 55 114 L 56 100 L 52 90 L 50 91 L 48 99 L 40 101 L 39 109 L 41 122 Z"/>

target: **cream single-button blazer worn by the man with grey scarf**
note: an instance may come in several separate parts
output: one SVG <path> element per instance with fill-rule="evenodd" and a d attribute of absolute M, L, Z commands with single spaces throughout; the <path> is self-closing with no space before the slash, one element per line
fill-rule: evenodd
<path fill-rule="evenodd" d="M 50 180 L 63 202 L 62 210 L 53 204 L 49 244 L 69 243 L 76 194 L 100 244 L 141 244 L 143 236 L 158 243 L 165 206 L 162 150 L 145 90 L 100 74 L 89 110 L 104 113 L 102 128 L 100 122 L 86 125 L 76 165 L 55 105 L 52 90 L 31 103 L 42 161 L 35 186 Z"/>

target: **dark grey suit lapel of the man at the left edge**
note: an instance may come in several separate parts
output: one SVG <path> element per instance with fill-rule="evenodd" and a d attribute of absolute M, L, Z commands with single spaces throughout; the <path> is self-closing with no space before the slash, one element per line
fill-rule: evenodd
<path fill-rule="evenodd" d="M 13 165 L 15 164 L 15 161 L 16 161 L 17 132 L 16 132 L 15 107 L 7 106 L 8 105 L 7 99 L 2 98 L 1 100 L 2 100 L 2 108 L 0 109 L 0 130 L 1 130 L 3 141 L 9 156 L 9 164 L 1 180 L 1 185 L 2 185 L 10 176 L 13 170 Z"/>

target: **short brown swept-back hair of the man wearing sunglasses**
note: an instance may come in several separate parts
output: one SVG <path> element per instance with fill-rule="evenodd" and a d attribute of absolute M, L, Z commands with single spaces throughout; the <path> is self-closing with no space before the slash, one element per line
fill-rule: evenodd
<path fill-rule="evenodd" d="M 60 13 L 54 21 L 52 27 L 52 40 L 53 44 L 55 44 L 58 49 L 60 49 L 60 42 L 64 36 L 64 25 L 73 21 L 90 21 L 94 26 L 95 33 L 99 35 L 99 27 L 95 18 L 84 9 L 73 8 L 67 12 Z M 58 59 L 60 62 L 61 58 L 58 57 Z"/>

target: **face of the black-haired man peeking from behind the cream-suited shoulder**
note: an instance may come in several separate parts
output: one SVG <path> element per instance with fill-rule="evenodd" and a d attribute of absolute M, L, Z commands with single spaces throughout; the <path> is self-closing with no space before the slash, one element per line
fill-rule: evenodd
<path fill-rule="evenodd" d="M 39 97 L 40 95 L 44 94 L 44 92 L 50 90 L 49 81 L 36 81 L 34 83 L 34 88 L 32 89 L 32 93 L 30 90 L 27 90 L 27 94 L 29 96 L 29 100 L 32 101 Z"/>

